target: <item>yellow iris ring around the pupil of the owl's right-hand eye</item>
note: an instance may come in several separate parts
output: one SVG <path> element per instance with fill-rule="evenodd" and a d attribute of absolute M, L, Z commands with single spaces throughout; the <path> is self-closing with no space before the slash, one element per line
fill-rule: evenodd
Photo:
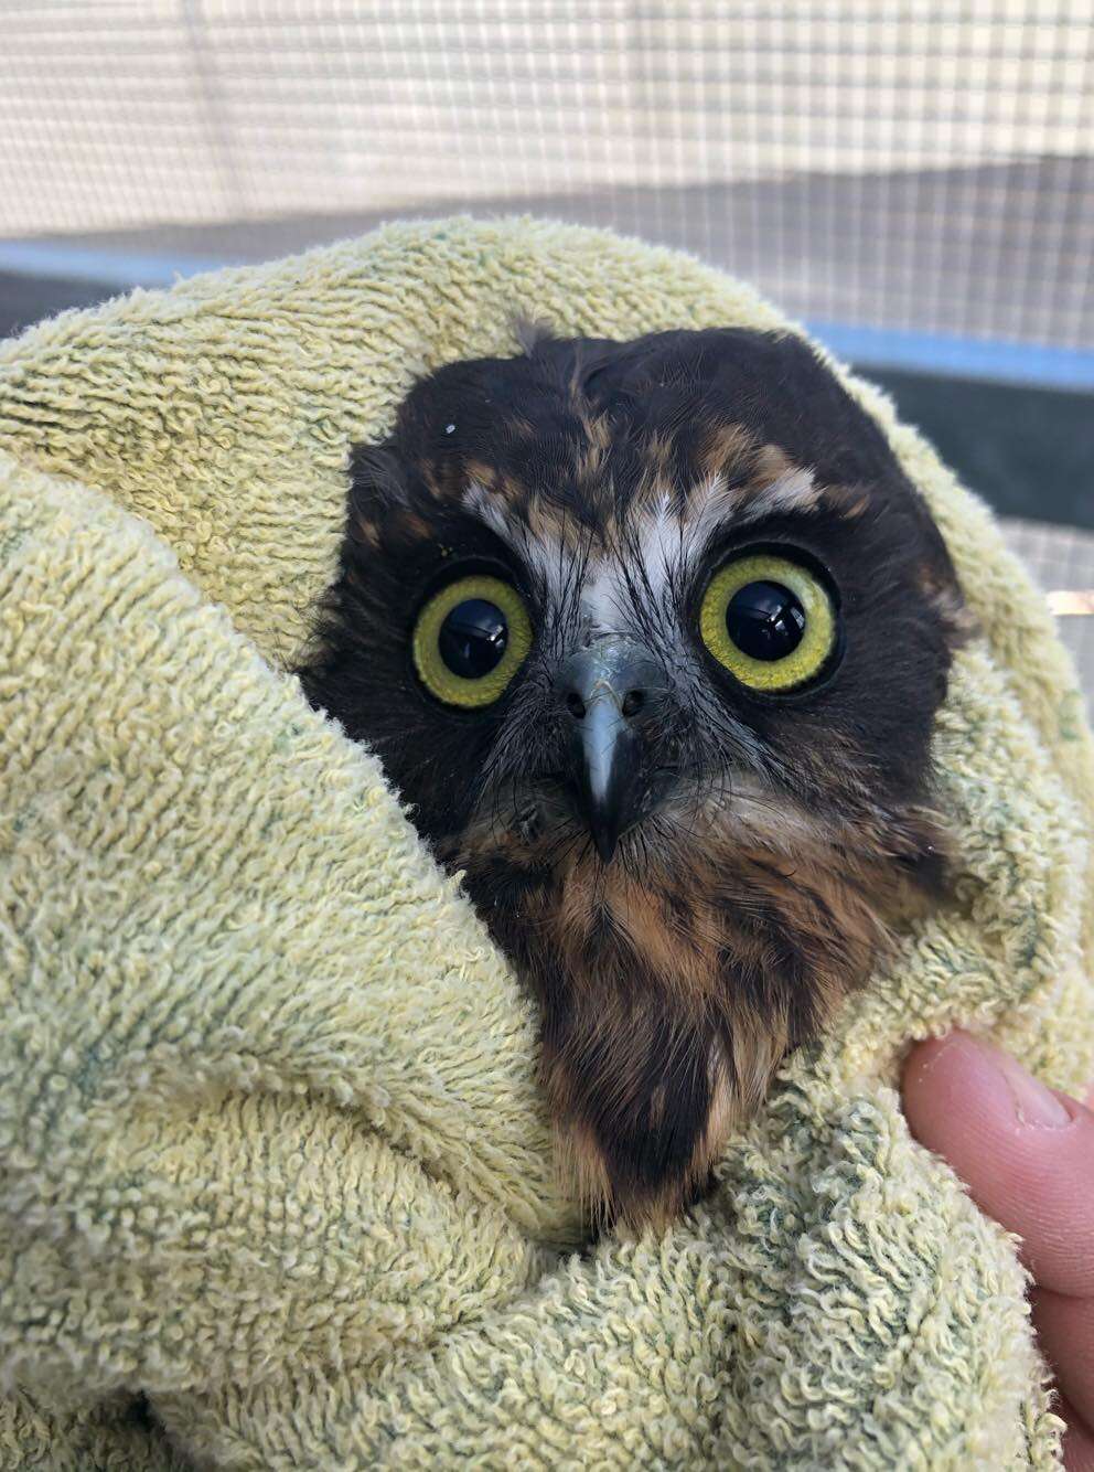
<path fill-rule="evenodd" d="M 729 605 L 750 583 L 773 583 L 793 593 L 801 634 L 782 658 L 754 658 L 734 642 L 728 627 Z M 773 552 L 754 552 L 726 562 L 707 583 L 698 611 L 703 643 L 719 664 L 753 690 L 793 690 L 818 674 L 837 640 L 835 608 L 828 589 L 800 562 Z"/>

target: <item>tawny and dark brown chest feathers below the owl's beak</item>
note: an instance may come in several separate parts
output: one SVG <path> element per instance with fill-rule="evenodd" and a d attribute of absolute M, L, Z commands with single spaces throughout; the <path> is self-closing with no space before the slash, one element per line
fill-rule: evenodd
<path fill-rule="evenodd" d="M 610 867 L 557 846 L 471 836 L 460 867 L 540 1004 L 579 1194 L 610 1220 L 668 1220 L 787 1052 L 866 980 L 900 883 L 891 858 L 801 841 L 790 858 L 732 821 L 687 857 L 671 824 Z"/>

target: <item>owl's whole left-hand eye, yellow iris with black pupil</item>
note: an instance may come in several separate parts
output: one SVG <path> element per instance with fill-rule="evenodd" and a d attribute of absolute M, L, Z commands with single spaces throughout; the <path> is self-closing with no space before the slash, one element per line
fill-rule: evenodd
<path fill-rule="evenodd" d="M 421 608 L 412 652 L 422 684 L 446 705 L 493 705 L 523 664 L 532 626 L 498 577 L 459 577 Z"/>

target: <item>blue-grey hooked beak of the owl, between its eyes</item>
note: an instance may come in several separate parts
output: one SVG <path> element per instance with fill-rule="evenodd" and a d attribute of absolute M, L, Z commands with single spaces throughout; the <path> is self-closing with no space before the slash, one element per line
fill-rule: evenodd
<path fill-rule="evenodd" d="M 597 639 L 562 667 L 578 807 L 604 864 L 646 811 L 648 749 L 635 717 L 662 684 L 650 654 L 615 634 Z"/>

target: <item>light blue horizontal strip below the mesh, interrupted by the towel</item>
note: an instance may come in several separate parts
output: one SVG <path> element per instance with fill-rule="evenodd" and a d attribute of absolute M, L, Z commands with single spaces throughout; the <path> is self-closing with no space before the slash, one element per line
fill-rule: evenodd
<path fill-rule="evenodd" d="M 201 256 L 140 255 L 54 241 L 0 241 L 0 274 L 40 280 L 90 281 L 125 291 L 134 286 L 172 286 L 182 277 L 215 271 L 225 261 Z M 1094 389 L 1094 352 L 997 339 L 950 337 L 900 328 L 856 327 L 809 319 L 806 327 L 837 358 L 863 368 L 1025 383 L 1054 389 Z"/>

